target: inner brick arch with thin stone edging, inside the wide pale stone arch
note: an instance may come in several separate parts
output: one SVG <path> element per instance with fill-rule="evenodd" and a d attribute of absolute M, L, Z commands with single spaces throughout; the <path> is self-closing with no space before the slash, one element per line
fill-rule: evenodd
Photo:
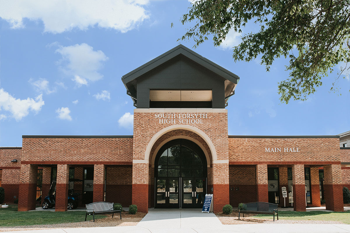
<path fill-rule="evenodd" d="M 211 156 L 211 152 L 210 152 L 210 149 L 209 149 L 209 146 L 205 143 L 205 141 L 198 135 L 198 134 L 195 134 L 197 136 L 197 139 L 201 139 L 200 140 L 197 140 L 195 137 L 191 137 L 191 135 L 183 135 L 184 133 L 183 132 L 190 132 L 191 134 L 195 134 L 191 131 L 188 131 L 188 130 L 173 130 L 173 131 L 170 131 L 168 133 L 165 133 L 163 134 L 153 145 L 152 147 L 152 150 L 151 150 L 151 156 L 149 157 L 149 163 L 152 165 L 152 167 L 154 166 L 154 163 L 155 163 L 155 157 L 158 153 L 158 151 L 160 150 L 160 148 L 166 144 L 167 142 L 169 141 L 172 141 L 174 139 L 187 139 L 187 140 L 190 140 L 190 141 L 193 141 L 194 143 L 196 143 L 199 147 L 201 147 L 202 151 L 204 152 L 204 155 L 205 155 L 205 158 L 207 160 L 207 166 L 209 167 L 210 164 L 211 164 L 211 161 L 212 161 L 212 156 Z M 169 133 L 172 133 L 174 132 L 174 134 L 178 134 L 178 133 L 182 133 L 182 134 L 178 134 L 178 135 L 167 135 Z M 198 138 L 199 137 L 199 138 Z"/>

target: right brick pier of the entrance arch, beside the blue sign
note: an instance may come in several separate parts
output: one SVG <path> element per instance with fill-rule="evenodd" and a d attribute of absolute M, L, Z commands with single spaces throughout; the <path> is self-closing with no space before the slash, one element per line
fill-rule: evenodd
<path fill-rule="evenodd" d="M 214 213 L 222 212 L 222 207 L 230 204 L 228 160 L 216 160 L 213 162 L 212 182 L 214 195 L 213 210 Z"/>

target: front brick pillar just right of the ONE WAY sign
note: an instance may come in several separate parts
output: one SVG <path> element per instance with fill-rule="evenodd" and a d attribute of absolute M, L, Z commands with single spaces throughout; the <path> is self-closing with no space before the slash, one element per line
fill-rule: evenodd
<path fill-rule="evenodd" d="M 306 211 L 305 173 L 303 164 L 292 165 L 294 211 Z"/>

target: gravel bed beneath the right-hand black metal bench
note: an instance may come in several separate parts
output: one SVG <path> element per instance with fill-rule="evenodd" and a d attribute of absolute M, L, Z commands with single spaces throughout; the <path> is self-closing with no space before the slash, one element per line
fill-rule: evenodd
<path fill-rule="evenodd" d="M 231 225 L 231 224 L 259 224 L 259 223 L 273 223 L 273 224 L 281 224 L 281 223 L 306 223 L 306 224 L 343 224 L 340 221 L 320 221 L 320 220 L 277 220 L 275 217 L 275 221 L 273 219 L 264 219 L 254 217 L 255 214 L 245 213 L 244 218 L 240 216 L 240 220 L 238 220 L 238 211 L 232 211 L 230 215 L 226 215 L 221 213 L 216 214 L 217 218 L 221 221 L 222 224 Z"/>

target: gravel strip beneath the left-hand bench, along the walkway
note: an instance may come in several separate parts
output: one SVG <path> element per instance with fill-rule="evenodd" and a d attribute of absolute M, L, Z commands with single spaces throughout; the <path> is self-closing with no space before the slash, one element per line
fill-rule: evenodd
<path fill-rule="evenodd" d="M 33 226 L 15 226 L 15 227 L 2 227 L 0 232 L 4 231 L 25 231 L 25 230 L 47 230 L 47 229 L 61 229 L 61 228 L 80 228 L 80 227 L 107 227 L 107 226 L 135 226 L 145 217 L 145 213 L 136 213 L 134 215 L 127 212 L 121 214 L 121 219 L 118 214 L 107 215 L 107 218 L 95 219 L 89 221 L 82 221 L 78 223 L 60 223 L 52 225 L 33 225 Z M 91 218 L 91 216 L 90 216 Z"/>

